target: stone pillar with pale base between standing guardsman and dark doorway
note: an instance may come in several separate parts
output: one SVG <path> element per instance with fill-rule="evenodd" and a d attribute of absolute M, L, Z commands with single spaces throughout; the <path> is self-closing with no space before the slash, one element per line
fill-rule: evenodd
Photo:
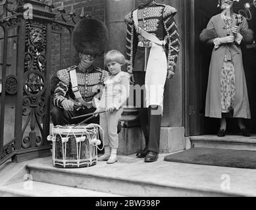
<path fill-rule="evenodd" d="M 184 125 L 183 125 L 183 108 L 184 103 L 182 99 L 182 17 L 183 6 L 180 0 L 157 0 L 157 3 L 170 5 L 175 7 L 178 11 L 175 21 L 178 26 L 178 32 L 180 34 L 180 53 L 176 66 L 176 74 L 173 79 L 166 80 L 165 95 L 164 95 L 164 110 L 163 119 L 161 123 L 161 140 L 160 150 L 161 152 L 176 152 L 184 150 L 186 147 L 186 141 L 184 138 Z"/>

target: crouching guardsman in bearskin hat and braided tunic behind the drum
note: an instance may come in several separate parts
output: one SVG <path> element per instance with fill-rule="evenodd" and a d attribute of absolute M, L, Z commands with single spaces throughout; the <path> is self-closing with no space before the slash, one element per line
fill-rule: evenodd
<path fill-rule="evenodd" d="M 105 24 L 93 18 L 85 18 L 76 24 L 73 44 L 80 56 L 78 66 L 57 72 L 59 83 L 53 95 L 51 116 L 53 125 L 80 123 L 84 118 L 72 117 L 95 112 L 93 98 L 97 97 L 109 72 L 93 66 L 96 56 L 102 56 L 108 43 Z M 99 117 L 88 123 L 99 123 Z"/>

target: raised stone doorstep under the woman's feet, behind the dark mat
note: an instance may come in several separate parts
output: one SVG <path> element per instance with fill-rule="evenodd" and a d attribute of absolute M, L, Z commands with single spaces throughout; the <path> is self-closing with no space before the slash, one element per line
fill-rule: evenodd
<path fill-rule="evenodd" d="M 256 135 L 252 135 L 251 137 L 238 135 L 226 135 L 226 137 L 201 135 L 190 137 L 190 141 L 192 147 L 256 151 Z"/>

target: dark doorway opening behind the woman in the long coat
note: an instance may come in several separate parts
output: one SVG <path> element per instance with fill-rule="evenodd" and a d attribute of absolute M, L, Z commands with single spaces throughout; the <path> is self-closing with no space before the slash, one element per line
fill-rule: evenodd
<path fill-rule="evenodd" d="M 192 8 L 192 40 L 191 40 L 191 71 L 190 71 L 190 135 L 216 134 L 220 120 L 205 117 L 205 97 L 211 60 L 212 47 L 206 47 L 199 41 L 199 34 L 206 28 L 212 16 L 221 12 L 218 1 L 194 0 Z M 240 0 L 236 3 L 235 12 L 247 17 L 249 28 L 256 33 L 256 5 L 253 0 Z M 245 3 L 251 6 L 245 9 Z M 250 18 L 251 16 L 251 18 Z M 255 35 L 256 38 L 256 35 Z M 242 45 L 243 66 L 247 81 L 251 119 L 245 120 L 247 128 L 256 133 L 256 47 Z M 227 132 L 239 133 L 236 119 L 227 119 Z"/>

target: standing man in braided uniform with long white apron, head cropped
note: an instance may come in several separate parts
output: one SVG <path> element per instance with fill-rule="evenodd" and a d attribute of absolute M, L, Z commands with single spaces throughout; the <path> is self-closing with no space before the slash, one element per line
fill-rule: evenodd
<path fill-rule="evenodd" d="M 153 0 L 138 3 L 125 18 L 128 73 L 136 85 L 145 85 L 145 102 L 142 96 L 139 110 L 145 149 L 137 156 L 153 162 L 159 154 L 165 81 L 174 76 L 180 42 L 174 7 Z"/>

